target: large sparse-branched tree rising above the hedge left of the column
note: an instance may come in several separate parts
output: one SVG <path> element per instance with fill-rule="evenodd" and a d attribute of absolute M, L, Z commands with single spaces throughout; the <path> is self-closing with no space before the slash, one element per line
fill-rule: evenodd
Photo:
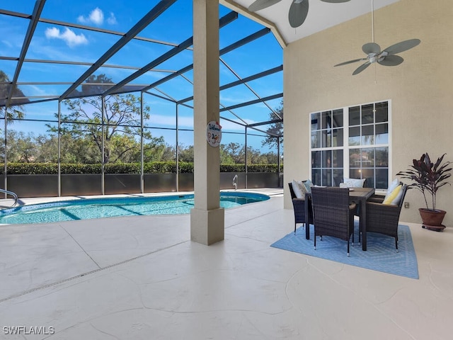
<path fill-rule="evenodd" d="M 99 85 L 93 85 L 99 83 Z M 105 74 L 92 75 L 82 85 L 82 94 L 98 94 L 110 86 L 112 81 Z M 76 98 L 64 101 L 69 113 L 62 115 L 62 135 L 69 135 L 76 140 L 75 150 L 84 149 L 85 154 L 79 152 L 76 159 L 79 162 L 101 162 L 101 154 L 105 163 L 111 162 L 138 162 L 140 152 L 140 101 L 133 94 L 110 95 L 105 97 L 104 120 L 102 115 L 101 96 Z M 149 118 L 150 108 L 144 106 L 143 118 Z M 104 135 L 102 134 L 104 123 Z M 47 125 L 51 132 L 56 132 L 55 126 Z M 143 137 L 148 147 L 161 145 L 163 140 L 144 131 Z M 103 143 L 104 138 L 104 143 Z M 87 145 L 87 143 L 89 143 Z"/>

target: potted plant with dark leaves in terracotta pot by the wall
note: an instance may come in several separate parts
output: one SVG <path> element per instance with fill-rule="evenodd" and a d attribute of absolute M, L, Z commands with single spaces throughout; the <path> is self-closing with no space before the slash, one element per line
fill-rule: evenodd
<path fill-rule="evenodd" d="M 409 166 L 406 171 L 400 171 L 396 174 L 403 179 L 413 181 L 408 188 L 416 188 L 423 193 L 426 208 L 418 209 L 423 221 L 422 227 L 438 232 L 445 229 L 442 221 L 446 212 L 436 208 L 436 194 L 442 186 L 450 184 L 447 179 L 452 176 L 449 172 L 452 171 L 452 168 L 449 167 L 452 162 L 442 163 L 444 157 L 445 154 L 442 154 L 435 163 L 432 163 L 428 152 L 426 152 L 422 154 L 420 159 L 413 159 L 413 165 Z M 427 196 L 430 197 L 430 205 L 428 205 Z"/>

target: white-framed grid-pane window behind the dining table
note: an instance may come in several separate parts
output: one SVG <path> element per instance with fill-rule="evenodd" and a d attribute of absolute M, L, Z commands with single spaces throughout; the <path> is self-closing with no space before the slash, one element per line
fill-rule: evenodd
<path fill-rule="evenodd" d="M 343 178 L 389 184 L 390 101 L 310 114 L 311 181 L 339 186 Z"/>

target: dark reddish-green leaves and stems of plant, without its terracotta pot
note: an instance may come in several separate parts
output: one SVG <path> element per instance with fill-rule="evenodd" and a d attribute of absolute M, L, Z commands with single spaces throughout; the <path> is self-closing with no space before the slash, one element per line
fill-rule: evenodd
<path fill-rule="evenodd" d="M 411 179 L 411 183 L 408 188 L 416 188 L 423 193 L 425 198 L 426 208 L 428 210 L 436 210 L 436 193 L 442 186 L 450 184 L 447 179 L 452 174 L 452 168 L 449 167 L 452 162 L 444 162 L 445 154 L 437 158 L 435 163 L 432 163 L 428 152 L 422 154 L 420 159 L 413 159 L 413 165 L 410 165 L 406 171 L 400 171 L 397 176 L 401 176 L 402 179 Z M 427 193 L 431 196 L 431 207 L 428 206 L 428 200 L 426 199 Z"/>

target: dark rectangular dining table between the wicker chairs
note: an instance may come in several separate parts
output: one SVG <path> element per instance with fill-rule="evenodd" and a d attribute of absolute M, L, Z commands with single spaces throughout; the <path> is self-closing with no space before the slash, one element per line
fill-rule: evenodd
<path fill-rule="evenodd" d="M 367 200 L 374 195 L 374 188 L 350 188 L 350 203 L 359 206 L 360 232 L 362 232 L 362 250 L 367 250 Z M 305 202 L 311 201 L 311 193 L 305 194 Z M 311 206 L 311 205 L 310 205 Z M 310 239 L 309 204 L 305 204 L 305 238 Z"/>

